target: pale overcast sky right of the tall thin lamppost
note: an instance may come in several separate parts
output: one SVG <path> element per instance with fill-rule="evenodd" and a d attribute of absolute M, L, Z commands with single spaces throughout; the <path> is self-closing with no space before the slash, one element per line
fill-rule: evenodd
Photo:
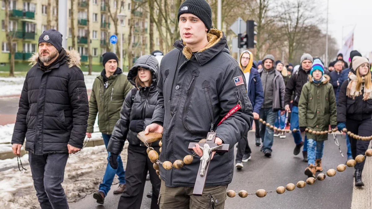
<path fill-rule="evenodd" d="M 327 0 L 321 1 L 324 1 L 326 14 Z M 354 49 L 363 56 L 372 51 L 372 0 L 329 0 L 328 18 L 328 34 L 337 39 L 339 48 L 342 27 L 343 35 L 347 36 L 356 25 Z M 325 30 L 325 25 L 322 28 Z"/>

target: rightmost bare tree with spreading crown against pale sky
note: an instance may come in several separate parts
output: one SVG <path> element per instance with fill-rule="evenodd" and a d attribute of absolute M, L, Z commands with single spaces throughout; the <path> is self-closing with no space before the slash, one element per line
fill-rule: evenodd
<path fill-rule="evenodd" d="M 312 24 L 316 22 L 318 25 L 322 18 L 317 16 L 315 6 L 307 0 L 285 0 L 277 8 L 280 34 L 285 37 L 288 47 L 288 61 L 293 62 L 301 46 L 314 35 Z"/>

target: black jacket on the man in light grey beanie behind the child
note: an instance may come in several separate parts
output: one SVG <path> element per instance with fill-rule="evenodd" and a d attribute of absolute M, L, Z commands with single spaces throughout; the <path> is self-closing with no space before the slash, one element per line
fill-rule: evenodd
<path fill-rule="evenodd" d="M 310 72 L 310 70 L 308 71 Z M 309 79 L 309 73 L 300 67 L 298 71 L 289 78 L 285 86 L 284 105 L 290 105 L 293 98 L 293 106 L 298 106 L 300 100 L 302 87 L 307 83 Z M 292 94 L 294 96 L 292 97 Z"/>

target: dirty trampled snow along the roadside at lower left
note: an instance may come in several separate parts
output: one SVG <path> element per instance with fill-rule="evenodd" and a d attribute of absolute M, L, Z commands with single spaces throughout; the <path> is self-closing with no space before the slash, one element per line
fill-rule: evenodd
<path fill-rule="evenodd" d="M 128 144 L 121 154 L 126 166 Z M 27 162 L 23 157 L 22 163 Z M 107 165 L 105 145 L 86 147 L 78 154 L 68 158 L 65 168 L 64 182 L 68 202 L 76 202 L 86 195 L 98 190 Z M 16 163 L 16 162 L 15 162 Z M 26 164 L 26 163 L 23 163 Z M 36 209 L 40 208 L 36 192 L 33 187 L 31 168 L 24 165 L 27 171 L 20 172 L 18 168 L 0 172 L 0 205 L 7 209 Z M 115 179 L 114 182 L 118 183 Z"/>

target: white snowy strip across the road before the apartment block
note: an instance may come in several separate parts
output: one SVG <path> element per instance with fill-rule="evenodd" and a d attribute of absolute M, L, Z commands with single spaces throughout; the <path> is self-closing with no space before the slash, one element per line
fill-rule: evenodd
<path fill-rule="evenodd" d="M 100 74 L 98 72 L 92 72 L 92 75 L 88 75 L 88 72 L 83 72 L 84 81 L 87 89 L 92 89 L 94 79 Z M 124 72 L 128 75 L 128 72 Z M 0 96 L 18 95 L 22 92 L 23 82 L 25 81 L 24 76 L 18 77 L 0 77 Z"/>

